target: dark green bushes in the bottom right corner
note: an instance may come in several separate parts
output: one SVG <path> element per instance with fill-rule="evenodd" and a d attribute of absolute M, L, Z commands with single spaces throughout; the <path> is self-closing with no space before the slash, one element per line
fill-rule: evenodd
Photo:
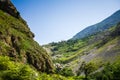
<path fill-rule="evenodd" d="M 90 76 L 95 80 L 120 80 L 120 61 L 107 63 L 104 69 Z"/>

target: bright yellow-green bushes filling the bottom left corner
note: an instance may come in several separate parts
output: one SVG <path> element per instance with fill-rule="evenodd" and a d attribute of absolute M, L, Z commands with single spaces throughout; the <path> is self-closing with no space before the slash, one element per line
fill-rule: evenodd
<path fill-rule="evenodd" d="M 28 65 L 10 61 L 8 57 L 0 56 L 0 78 L 3 80 L 36 80 L 37 72 Z"/>

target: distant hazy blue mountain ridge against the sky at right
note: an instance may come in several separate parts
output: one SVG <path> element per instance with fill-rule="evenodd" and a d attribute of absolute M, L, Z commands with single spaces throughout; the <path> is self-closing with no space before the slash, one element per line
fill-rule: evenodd
<path fill-rule="evenodd" d="M 120 22 L 120 10 L 112 14 L 110 17 L 106 18 L 105 20 L 101 21 L 100 23 L 94 24 L 92 26 L 88 26 L 84 30 L 77 33 L 75 36 L 73 36 L 72 40 L 75 39 L 81 39 L 87 36 L 90 36 L 92 34 L 95 34 L 97 32 L 104 31 L 113 25 Z"/>

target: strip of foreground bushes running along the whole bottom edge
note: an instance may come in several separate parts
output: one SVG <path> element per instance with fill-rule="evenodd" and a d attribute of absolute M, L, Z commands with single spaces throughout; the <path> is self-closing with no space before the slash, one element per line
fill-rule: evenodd
<path fill-rule="evenodd" d="M 105 64 L 104 69 L 100 72 L 99 71 L 95 72 L 95 74 L 90 74 L 95 70 L 95 66 L 93 65 L 93 63 L 84 65 L 84 68 L 82 70 L 86 71 L 87 77 L 85 78 L 84 76 L 63 77 L 57 74 L 39 73 L 27 64 L 23 64 L 20 62 L 13 62 L 7 56 L 0 56 L 0 80 L 83 80 L 83 79 L 119 80 L 120 79 L 120 61 L 116 61 L 113 64 L 109 64 L 109 63 Z M 69 74 L 69 72 L 66 73 Z"/>

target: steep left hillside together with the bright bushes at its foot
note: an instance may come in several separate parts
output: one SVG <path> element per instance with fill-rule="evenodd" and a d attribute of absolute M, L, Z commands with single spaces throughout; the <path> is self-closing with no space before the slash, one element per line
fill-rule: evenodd
<path fill-rule="evenodd" d="M 74 80 L 55 74 L 51 57 L 10 0 L 0 0 L 0 80 Z"/>

